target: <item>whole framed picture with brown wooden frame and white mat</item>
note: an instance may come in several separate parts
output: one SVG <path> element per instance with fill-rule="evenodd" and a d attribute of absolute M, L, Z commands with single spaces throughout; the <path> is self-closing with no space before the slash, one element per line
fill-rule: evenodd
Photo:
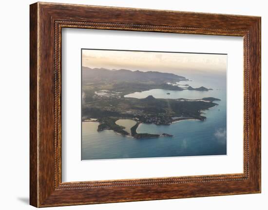
<path fill-rule="evenodd" d="M 30 5 L 30 204 L 261 192 L 261 18 Z"/>

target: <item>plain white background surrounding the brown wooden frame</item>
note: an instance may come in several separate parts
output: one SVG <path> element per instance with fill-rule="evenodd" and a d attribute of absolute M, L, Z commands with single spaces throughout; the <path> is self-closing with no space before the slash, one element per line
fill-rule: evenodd
<path fill-rule="evenodd" d="M 48 209 L 267 209 L 268 206 L 268 6 L 265 0 L 50 0 L 51 2 L 253 15 L 262 17 L 262 193 L 204 198 L 85 205 Z M 0 209 L 34 209 L 29 202 L 29 4 L 2 1 L 0 7 Z M 266 119 L 265 119 L 266 118 Z"/>

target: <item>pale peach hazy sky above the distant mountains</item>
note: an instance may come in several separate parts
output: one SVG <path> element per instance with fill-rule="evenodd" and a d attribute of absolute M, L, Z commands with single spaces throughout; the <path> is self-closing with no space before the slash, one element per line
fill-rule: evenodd
<path fill-rule="evenodd" d="M 90 68 L 158 71 L 186 76 L 226 75 L 227 55 L 82 50 L 82 65 Z"/>

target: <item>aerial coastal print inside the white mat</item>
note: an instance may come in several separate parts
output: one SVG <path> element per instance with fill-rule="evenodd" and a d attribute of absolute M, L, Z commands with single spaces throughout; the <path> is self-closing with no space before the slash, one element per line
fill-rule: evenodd
<path fill-rule="evenodd" d="M 81 160 L 227 155 L 227 54 L 81 59 Z"/>

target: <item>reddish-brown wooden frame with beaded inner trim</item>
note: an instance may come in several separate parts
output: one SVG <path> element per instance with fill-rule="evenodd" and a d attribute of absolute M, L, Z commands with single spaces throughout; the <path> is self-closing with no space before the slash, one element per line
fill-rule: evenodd
<path fill-rule="evenodd" d="M 244 37 L 244 172 L 62 183 L 63 27 Z M 260 17 L 56 3 L 30 5 L 30 204 L 49 207 L 260 192 L 260 36 Z"/>

